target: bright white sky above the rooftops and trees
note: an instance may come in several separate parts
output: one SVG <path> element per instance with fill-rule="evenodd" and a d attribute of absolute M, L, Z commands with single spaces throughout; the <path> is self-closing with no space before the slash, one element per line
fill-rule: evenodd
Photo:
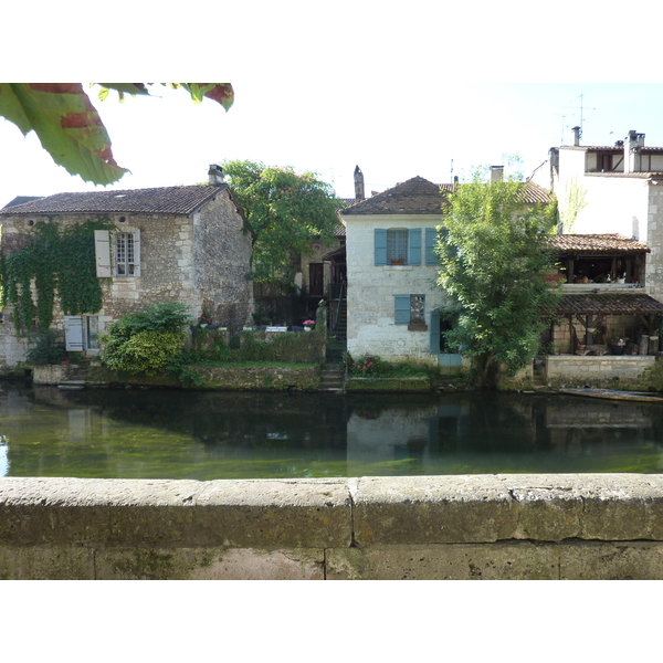
<path fill-rule="evenodd" d="M 190 185 L 207 180 L 210 164 L 251 159 L 313 170 L 341 198 L 354 197 L 358 165 L 366 192 L 421 176 L 436 183 L 466 179 L 473 167 L 502 165 L 517 152 L 529 175 L 552 146 L 572 140 L 582 118 L 582 145 L 613 145 L 629 129 L 663 146 L 663 84 L 463 83 L 448 88 L 413 81 L 402 107 L 388 106 L 367 84 L 337 105 L 327 83 L 231 81 L 229 112 L 212 101 L 196 105 L 185 91 L 155 86 L 154 98 L 101 102 L 88 90 L 110 135 L 118 165 L 131 172 L 114 189 Z M 293 112 L 293 107 L 296 112 Z M 71 177 L 42 149 L 0 122 L 0 206 L 15 196 L 94 190 Z M 102 189 L 102 188 L 99 188 Z"/>

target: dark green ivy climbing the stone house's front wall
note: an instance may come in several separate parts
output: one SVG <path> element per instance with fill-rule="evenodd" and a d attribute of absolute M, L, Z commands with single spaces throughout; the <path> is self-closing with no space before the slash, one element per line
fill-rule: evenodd
<path fill-rule="evenodd" d="M 96 313 L 102 308 L 103 292 L 96 275 L 94 231 L 115 230 L 108 219 L 76 223 L 62 230 L 40 221 L 23 249 L 2 261 L 3 299 L 13 307 L 17 334 L 30 334 L 35 303 L 31 285 L 36 291 L 38 326 L 45 330 L 53 322 L 55 294 L 64 315 Z"/>

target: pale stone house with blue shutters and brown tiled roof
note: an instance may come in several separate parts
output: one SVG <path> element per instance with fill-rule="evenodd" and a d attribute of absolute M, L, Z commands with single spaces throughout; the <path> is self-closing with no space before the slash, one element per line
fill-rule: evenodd
<path fill-rule="evenodd" d="M 492 179 L 502 177 L 493 167 Z M 347 233 L 347 349 L 352 358 L 377 355 L 392 361 L 461 367 L 449 352 L 439 311 L 445 304 L 435 285 L 434 253 L 443 206 L 454 185 L 422 177 L 340 210 Z M 528 185 L 528 202 L 549 194 Z"/>

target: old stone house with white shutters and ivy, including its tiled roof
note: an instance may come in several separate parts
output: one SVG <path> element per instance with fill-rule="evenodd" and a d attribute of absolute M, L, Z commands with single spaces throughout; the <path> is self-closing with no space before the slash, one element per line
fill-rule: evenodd
<path fill-rule="evenodd" d="M 0 210 L 4 256 L 29 243 L 39 221 L 114 227 L 94 231 L 102 308 L 65 319 L 55 301 L 53 326 L 65 332 L 67 349 L 98 351 L 97 335 L 110 323 L 158 301 L 181 302 L 193 318 L 206 312 L 231 334 L 251 322 L 251 240 L 222 170 L 211 166 L 209 178 L 201 186 L 57 193 Z M 11 306 L 3 313 L 0 365 L 15 366 L 28 340 L 15 335 Z"/>

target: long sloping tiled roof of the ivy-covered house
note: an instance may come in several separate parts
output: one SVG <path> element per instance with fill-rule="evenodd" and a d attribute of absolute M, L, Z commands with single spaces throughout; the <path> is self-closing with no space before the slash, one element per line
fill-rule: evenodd
<path fill-rule="evenodd" d="M 133 212 L 190 214 L 208 200 L 214 198 L 221 187 L 188 186 L 160 187 L 156 189 L 128 189 L 125 191 L 86 191 L 56 193 L 39 198 L 7 210 L 11 214 L 55 214 L 74 212 Z"/>

